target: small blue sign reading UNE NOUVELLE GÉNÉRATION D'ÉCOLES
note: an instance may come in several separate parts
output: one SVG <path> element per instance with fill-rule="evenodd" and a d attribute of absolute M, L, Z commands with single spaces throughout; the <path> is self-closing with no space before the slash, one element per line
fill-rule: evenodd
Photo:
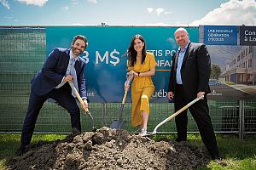
<path fill-rule="evenodd" d="M 203 26 L 203 42 L 207 45 L 237 45 L 237 26 Z"/>

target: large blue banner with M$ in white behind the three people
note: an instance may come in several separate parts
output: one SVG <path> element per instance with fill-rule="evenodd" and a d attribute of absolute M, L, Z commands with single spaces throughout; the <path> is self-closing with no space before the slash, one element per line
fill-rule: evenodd
<path fill-rule="evenodd" d="M 85 77 L 88 82 L 88 96 L 92 102 L 121 102 L 124 95 L 127 57 L 123 56 L 131 38 L 141 34 L 148 51 L 157 62 L 153 77 L 155 91 L 151 101 L 166 101 L 172 55 L 177 50 L 174 40 L 175 27 L 144 26 L 53 26 L 46 28 L 47 54 L 55 47 L 69 48 L 77 34 L 88 38 L 89 46 L 83 57 L 86 62 Z M 198 42 L 198 27 L 189 27 L 192 42 Z M 131 101 L 131 95 L 127 96 Z"/>

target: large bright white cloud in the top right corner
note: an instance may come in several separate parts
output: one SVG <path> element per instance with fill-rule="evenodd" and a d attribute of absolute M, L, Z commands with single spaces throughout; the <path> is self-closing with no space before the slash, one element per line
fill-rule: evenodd
<path fill-rule="evenodd" d="M 201 20 L 195 20 L 190 25 L 255 25 L 255 0 L 230 0 L 222 3 L 219 8 L 209 12 Z"/>

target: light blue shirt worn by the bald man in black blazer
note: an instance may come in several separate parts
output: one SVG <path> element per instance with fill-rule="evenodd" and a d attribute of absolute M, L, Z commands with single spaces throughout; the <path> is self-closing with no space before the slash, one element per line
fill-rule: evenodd
<path fill-rule="evenodd" d="M 188 48 L 188 45 L 189 45 L 189 42 L 183 49 L 178 48 L 177 71 L 176 71 L 176 83 L 177 84 L 183 84 L 180 70 L 181 70 L 181 67 L 183 65 L 183 59 L 184 59 L 184 55 L 186 53 L 186 50 Z"/>

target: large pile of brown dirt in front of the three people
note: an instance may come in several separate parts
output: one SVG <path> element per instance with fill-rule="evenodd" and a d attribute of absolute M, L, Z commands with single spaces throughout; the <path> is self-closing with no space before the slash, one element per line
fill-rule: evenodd
<path fill-rule="evenodd" d="M 209 156 L 189 143 L 156 142 L 102 127 L 64 140 L 33 144 L 9 169 L 195 169 Z"/>

